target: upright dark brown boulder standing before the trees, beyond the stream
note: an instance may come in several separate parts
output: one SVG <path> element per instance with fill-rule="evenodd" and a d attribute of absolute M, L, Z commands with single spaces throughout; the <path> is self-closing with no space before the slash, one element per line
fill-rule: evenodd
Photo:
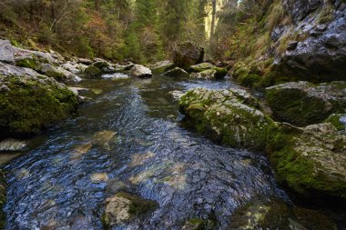
<path fill-rule="evenodd" d="M 177 46 L 173 53 L 173 62 L 180 68 L 188 69 L 191 65 L 203 62 L 204 49 L 190 42 Z"/>

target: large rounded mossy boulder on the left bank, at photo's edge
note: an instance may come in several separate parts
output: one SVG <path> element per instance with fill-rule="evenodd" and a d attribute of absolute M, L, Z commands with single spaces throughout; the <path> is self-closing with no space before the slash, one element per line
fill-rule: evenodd
<path fill-rule="evenodd" d="M 76 105 L 66 85 L 0 63 L 0 136 L 37 134 L 73 113 Z"/>

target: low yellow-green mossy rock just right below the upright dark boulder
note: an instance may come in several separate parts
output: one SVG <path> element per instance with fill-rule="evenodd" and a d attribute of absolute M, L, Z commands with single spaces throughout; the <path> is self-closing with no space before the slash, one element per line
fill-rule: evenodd
<path fill-rule="evenodd" d="M 215 73 L 213 73 L 213 72 Z M 200 75 L 191 75 L 194 78 L 223 78 L 227 75 L 225 68 L 212 65 L 210 63 L 201 63 L 198 65 L 191 65 L 188 67 L 189 73 L 200 73 Z"/>

